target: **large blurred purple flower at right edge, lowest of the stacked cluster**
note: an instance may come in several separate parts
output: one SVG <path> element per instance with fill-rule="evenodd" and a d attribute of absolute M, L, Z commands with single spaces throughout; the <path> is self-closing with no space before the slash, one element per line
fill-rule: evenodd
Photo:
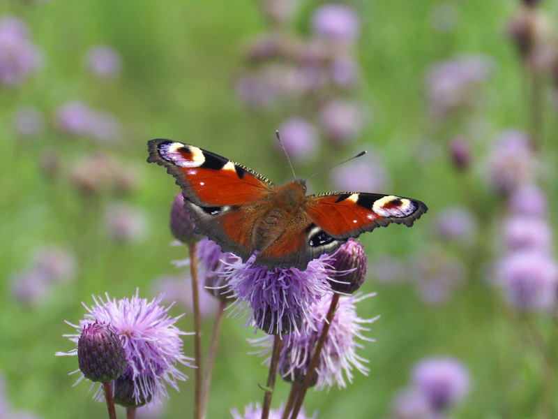
<path fill-rule="evenodd" d="M 548 253 L 515 251 L 497 264 L 497 278 L 508 303 L 543 311 L 557 303 L 558 265 Z"/>

